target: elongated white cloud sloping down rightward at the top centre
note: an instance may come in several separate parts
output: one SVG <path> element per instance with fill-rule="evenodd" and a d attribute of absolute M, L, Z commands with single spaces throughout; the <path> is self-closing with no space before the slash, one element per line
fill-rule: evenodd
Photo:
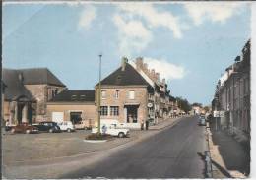
<path fill-rule="evenodd" d="M 122 3 L 118 5 L 118 8 L 122 13 L 128 14 L 129 17 L 142 17 L 149 28 L 163 27 L 171 30 L 175 38 L 182 37 L 182 26 L 179 19 L 170 12 L 160 12 L 152 4 L 148 3 Z"/>

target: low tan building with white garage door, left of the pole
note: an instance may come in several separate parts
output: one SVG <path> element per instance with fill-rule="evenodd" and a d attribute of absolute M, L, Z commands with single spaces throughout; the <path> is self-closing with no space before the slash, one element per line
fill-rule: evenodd
<path fill-rule="evenodd" d="M 95 124 L 95 90 L 63 90 L 47 102 L 47 116 L 54 122 L 84 120 Z"/>

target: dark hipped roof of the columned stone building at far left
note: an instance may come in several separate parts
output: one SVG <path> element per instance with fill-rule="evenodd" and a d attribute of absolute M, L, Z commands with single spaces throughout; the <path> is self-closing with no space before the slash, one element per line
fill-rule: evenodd
<path fill-rule="evenodd" d="M 22 73 L 26 85 L 47 84 L 66 87 L 48 68 L 19 69 L 16 71 Z"/>

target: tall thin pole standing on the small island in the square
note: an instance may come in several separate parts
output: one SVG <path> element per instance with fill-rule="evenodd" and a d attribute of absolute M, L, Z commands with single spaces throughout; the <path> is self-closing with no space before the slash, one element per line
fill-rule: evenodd
<path fill-rule="evenodd" d="M 101 57 L 99 54 L 99 72 L 98 72 L 98 89 L 97 89 L 97 134 L 100 134 L 100 101 L 101 101 Z"/>

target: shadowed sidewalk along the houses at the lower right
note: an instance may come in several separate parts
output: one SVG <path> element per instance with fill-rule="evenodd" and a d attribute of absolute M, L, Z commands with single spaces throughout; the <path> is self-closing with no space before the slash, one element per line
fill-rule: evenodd
<path fill-rule="evenodd" d="M 250 150 L 224 131 L 207 130 L 214 178 L 246 178 L 250 172 Z"/>

